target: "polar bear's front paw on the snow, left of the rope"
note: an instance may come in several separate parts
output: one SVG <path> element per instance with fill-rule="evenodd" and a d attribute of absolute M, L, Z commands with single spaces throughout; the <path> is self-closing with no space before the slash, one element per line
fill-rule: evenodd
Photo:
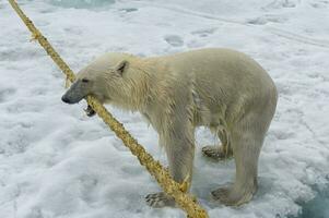
<path fill-rule="evenodd" d="M 173 197 L 168 196 L 164 192 L 148 194 L 145 196 L 146 204 L 154 208 L 161 207 L 175 207 L 176 203 Z"/>

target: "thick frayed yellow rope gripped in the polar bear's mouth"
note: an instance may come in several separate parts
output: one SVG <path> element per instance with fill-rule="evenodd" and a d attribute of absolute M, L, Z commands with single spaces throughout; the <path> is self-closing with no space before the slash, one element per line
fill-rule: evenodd
<path fill-rule="evenodd" d="M 68 66 L 68 64 L 60 58 L 56 50 L 51 47 L 48 40 L 42 35 L 42 33 L 34 26 L 32 21 L 23 13 L 19 4 L 14 0 L 9 0 L 9 3 L 25 23 L 27 28 L 32 33 L 32 38 L 38 40 L 40 46 L 50 56 L 54 62 L 60 68 L 60 70 L 67 75 L 67 82 L 73 82 L 75 78 L 74 73 Z M 67 83 L 68 84 L 68 83 Z M 146 153 L 130 134 L 125 130 L 124 125 L 117 121 L 97 99 L 92 96 L 87 96 L 87 104 L 93 110 L 103 119 L 103 121 L 109 126 L 111 131 L 124 142 L 124 144 L 137 156 L 140 164 L 144 166 L 149 172 L 155 178 L 162 189 L 168 195 L 173 196 L 176 203 L 181 207 L 188 217 L 192 218 L 208 218 L 207 211 L 197 204 L 197 201 L 191 195 L 185 193 L 188 186 L 187 182 L 179 184 L 175 182 L 169 175 L 168 171 L 162 167 L 158 161 L 155 161 L 153 157 Z"/>

